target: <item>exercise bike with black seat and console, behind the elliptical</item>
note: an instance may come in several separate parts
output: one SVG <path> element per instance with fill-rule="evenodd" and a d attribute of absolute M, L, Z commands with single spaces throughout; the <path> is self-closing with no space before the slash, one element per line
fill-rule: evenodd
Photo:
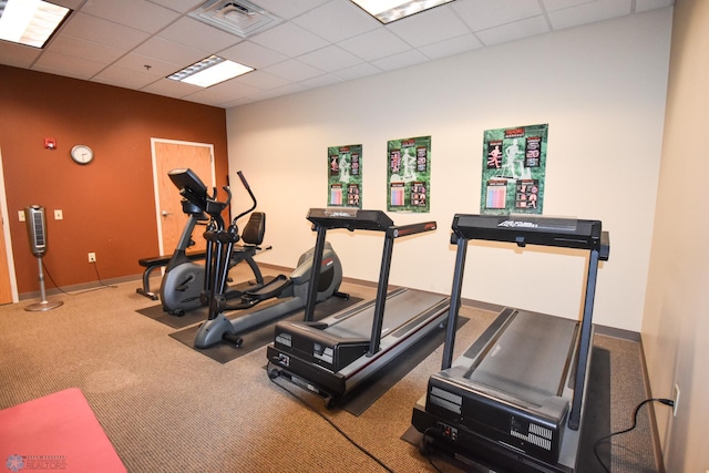
<path fill-rule="evenodd" d="M 193 232 L 199 223 L 206 223 L 214 217 L 209 212 L 222 212 L 228 203 L 216 203 L 214 198 L 210 198 L 207 195 L 207 187 L 192 169 L 173 169 L 168 173 L 168 177 L 183 196 L 182 209 L 187 214 L 188 218 L 163 276 L 160 286 L 160 299 L 164 311 L 173 316 L 183 316 L 188 310 L 208 305 L 208 299 L 203 295 L 206 288 L 205 265 L 194 263 L 187 254 L 187 249 L 195 244 L 192 239 Z M 237 218 L 256 208 L 256 198 L 250 188 L 247 187 L 247 191 L 254 200 L 254 205 Z M 209 212 L 207 212 L 207 206 L 210 206 Z M 254 255 L 260 249 L 259 245 L 264 239 L 265 224 L 266 215 L 254 212 L 244 228 L 245 245 L 235 248 L 229 259 L 229 269 L 240 261 L 246 261 L 251 268 L 258 286 L 264 284 L 264 277 L 254 260 Z M 229 294 L 228 296 L 238 297 L 240 292 Z"/>

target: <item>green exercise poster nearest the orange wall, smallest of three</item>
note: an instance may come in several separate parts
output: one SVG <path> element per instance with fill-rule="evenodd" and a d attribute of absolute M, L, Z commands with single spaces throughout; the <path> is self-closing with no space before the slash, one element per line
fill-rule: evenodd
<path fill-rule="evenodd" d="M 328 206 L 362 208 L 362 145 L 328 147 Z"/>

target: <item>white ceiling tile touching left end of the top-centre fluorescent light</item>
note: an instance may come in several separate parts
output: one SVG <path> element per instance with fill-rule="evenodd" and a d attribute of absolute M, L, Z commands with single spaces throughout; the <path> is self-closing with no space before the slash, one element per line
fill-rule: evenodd
<path fill-rule="evenodd" d="M 347 21 L 342 21 L 347 18 Z M 333 43 L 374 30 L 379 21 L 349 1 L 332 1 L 292 20 L 294 23 Z"/>

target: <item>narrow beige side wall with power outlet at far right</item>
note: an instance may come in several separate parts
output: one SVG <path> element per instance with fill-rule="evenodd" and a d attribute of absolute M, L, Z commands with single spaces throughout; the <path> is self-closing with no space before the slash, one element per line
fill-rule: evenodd
<path fill-rule="evenodd" d="M 677 417 L 657 408 L 667 472 L 709 469 L 709 2 L 677 0 L 667 117 L 643 341 L 653 394 L 680 388 Z"/>

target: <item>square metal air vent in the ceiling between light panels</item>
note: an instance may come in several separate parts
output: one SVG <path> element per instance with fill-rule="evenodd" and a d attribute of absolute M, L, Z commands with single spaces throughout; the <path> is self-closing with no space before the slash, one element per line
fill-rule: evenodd
<path fill-rule="evenodd" d="M 274 28 L 282 21 L 245 0 L 208 0 L 189 12 L 189 17 L 242 38 Z"/>

